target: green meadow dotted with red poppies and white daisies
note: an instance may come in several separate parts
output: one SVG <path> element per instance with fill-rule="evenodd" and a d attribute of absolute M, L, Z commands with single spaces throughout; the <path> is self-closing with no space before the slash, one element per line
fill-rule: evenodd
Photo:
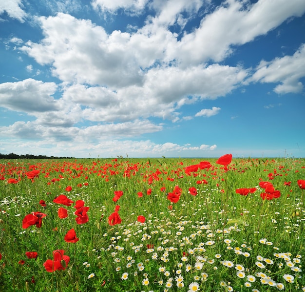
<path fill-rule="evenodd" d="M 0 291 L 305 291 L 305 159 L 0 160 Z"/>

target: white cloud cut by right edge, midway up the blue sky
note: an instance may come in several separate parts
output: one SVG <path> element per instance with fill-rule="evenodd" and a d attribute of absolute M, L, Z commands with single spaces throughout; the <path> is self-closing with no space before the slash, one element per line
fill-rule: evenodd
<path fill-rule="evenodd" d="M 251 81 L 261 83 L 281 83 L 274 88 L 276 93 L 298 93 L 303 90 L 300 79 L 305 77 L 305 44 L 292 56 L 262 61 L 256 68 Z"/>

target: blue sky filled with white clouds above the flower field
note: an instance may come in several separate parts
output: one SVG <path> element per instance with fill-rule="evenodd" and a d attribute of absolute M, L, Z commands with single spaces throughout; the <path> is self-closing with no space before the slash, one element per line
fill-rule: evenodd
<path fill-rule="evenodd" d="M 305 157 L 304 0 L 2 0 L 0 153 Z"/>

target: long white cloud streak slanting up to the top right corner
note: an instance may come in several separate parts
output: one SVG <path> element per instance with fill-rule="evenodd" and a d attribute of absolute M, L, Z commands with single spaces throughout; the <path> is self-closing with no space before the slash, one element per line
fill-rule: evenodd
<path fill-rule="evenodd" d="M 301 16 L 305 1 L 287 0 L 250 1 L 227 0 L 213 13 L 202 19 L 200 26 L 185 34 L 181 42 L 169 51 L 169 59 L 182 65 L 220 62 L 232 53 L 232 45 L 241 45 L 267 34 L 287 18 Z"/>

